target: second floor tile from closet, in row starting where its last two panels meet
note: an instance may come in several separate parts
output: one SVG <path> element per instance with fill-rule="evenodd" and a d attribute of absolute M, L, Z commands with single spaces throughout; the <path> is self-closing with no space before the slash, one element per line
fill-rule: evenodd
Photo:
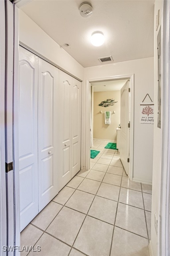
<path fill-rule="evenodd" d="M 91 194 L 96 194 L 100 184 L 101 182 L 99 181 L 89 180 L 85 178 L 78 187 L 78 189 Z"/>

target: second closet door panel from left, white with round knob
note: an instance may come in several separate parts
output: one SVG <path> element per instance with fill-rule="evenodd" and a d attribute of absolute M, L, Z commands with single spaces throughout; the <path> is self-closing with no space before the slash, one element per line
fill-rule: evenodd
<path fill-rule="evenodd" d="M 57 90 L 59 70 L 39 58 L 38 157 L 39 212 L 58 193 Z"/>

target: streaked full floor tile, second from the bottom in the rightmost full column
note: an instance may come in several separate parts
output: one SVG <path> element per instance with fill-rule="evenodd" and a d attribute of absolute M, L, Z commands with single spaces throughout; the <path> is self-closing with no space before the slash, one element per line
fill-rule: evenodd
<path fill-rule="evenodd" d="M 147 238 L 144 210 L 118 203 L 116 226 Z"/>

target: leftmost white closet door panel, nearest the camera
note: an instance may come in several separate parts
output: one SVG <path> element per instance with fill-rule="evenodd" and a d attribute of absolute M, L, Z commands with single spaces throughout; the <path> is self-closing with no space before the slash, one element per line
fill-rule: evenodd
<path fill-rule="evenodd" d="M 21 230 L 38 214 L 38 57 L 19 51 L 19 177 Z"/>

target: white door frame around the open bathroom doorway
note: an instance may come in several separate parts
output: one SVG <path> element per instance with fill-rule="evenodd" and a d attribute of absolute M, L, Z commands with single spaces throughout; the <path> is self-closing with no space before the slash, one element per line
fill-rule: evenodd
<path fill-rule="evenodd" d="M 133 144 L 134 144 L 134 74 L 131 75 L 118 75 L 102 78 L 91 78 L 85 81 L 85 106 L 86 114 L 83 116 L 85 123 L 85 167 L 86 170 L 90 169 L 90 98 L 91 98 L 91 82 L 102 82 L 119 79 L 128 79 L 130 84 L 130 134 L 129 134 L 129 179 L 133 179 Z"/>

